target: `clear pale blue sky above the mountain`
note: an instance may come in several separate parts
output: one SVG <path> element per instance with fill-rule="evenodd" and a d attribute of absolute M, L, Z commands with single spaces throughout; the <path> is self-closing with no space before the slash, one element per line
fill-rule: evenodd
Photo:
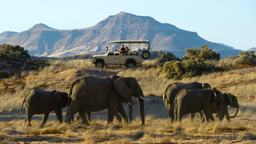
<path fill-rule="evenodd" d="M 56 29 L 88 28 L 122 11 L 150 16 L 236 49 L 256 47 L 256 0 L 5 0 L 0 33 L 25 31 L 37 23 Z"/>

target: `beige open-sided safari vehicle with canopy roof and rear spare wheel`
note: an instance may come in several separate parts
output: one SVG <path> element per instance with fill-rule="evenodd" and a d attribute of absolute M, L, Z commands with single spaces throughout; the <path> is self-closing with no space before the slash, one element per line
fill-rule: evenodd
<path fill-rule="evenodd" d="M 118 46 L 111 48 L 106 47 L 107 51 L 105 54 L 92 55 L 90 61 L 96 68 L 103 68 L 104 65 L 126 65 L 126 68 L 133 68 L 136 64 L 141 63 L 141 59 L 146 60 L 150 57 L 150 42 L 148 40 L 118 40 L 107 43 L 118 44 Z M 147 44 L 146 48 L 140 48 L 140 44 L 142 43 Z M 130 49 L 123 55 L 120 54 L 122 44 L 128 44 L 128 49 Z M 131 44 L 138 44 L 138 50 L 131 52 Z M 112 53 L 115 49 L 117 52 Z"/>

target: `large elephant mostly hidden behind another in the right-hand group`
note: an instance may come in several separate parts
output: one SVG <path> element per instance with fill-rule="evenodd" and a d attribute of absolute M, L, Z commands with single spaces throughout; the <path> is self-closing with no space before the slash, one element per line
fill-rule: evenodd
<path fill-rule="evenodd" d="M 205 89 L 211 88 L 210 84 L 208 83 L 198 83 L 198 82 L 191 82 L 191 83 L 173 83 L 166 87 L 163 100 L 164 106 L 168 110 L 168 114 L 170 116 L 170 122 L 174 120 L 174 99 L 177 93 L 184 89 L 184 88 L 193 88 L 193 89 Z M 202 116 L 201 116 L 202 119 Z"/>

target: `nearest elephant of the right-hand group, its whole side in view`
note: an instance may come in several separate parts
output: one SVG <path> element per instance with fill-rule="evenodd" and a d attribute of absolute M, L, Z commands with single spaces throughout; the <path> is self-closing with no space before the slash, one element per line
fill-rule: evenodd
<path fill-rule="evenodd" d="M 214 105 L 221 106 L 219 117 L 219 120 L 221 120 L 224 101 L 220 91 L 216 88 L 213 88 L 213 90 L 184 88 L 177 93 L 174 100 L 174 122 L 181 122 L 182 116 L 200 111 L 203 111 L 205 119 L 209 118 L 214 121 L 212 116 L 212 107 Z"/>

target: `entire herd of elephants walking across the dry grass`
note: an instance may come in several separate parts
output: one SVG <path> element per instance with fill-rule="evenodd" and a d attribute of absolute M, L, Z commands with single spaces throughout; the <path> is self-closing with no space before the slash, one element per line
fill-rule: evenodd
<path fill-rule="evenodd" d="M 25 103 L 27 117 L 24 120 L 27 126 L 31 125 L 31 117 L 43 114 L 42 127 L 54 110 L 59 123 L 62 123 L 62 109 L 67 107 L 65 123 L 74 121 L 74 114 L 78 113 L 75 120 L 82 119 L 82 123 L 90 125 L 91 112 L 108 108 L 107 122 L 112 123 L 114 116 L 118 121 L 128 122 L 122 103 L 129 104 L 129 121 L 132 121 L 132 96 L 138 98 L 142 124 L 145 124 L 144 98 L 140 85 L 133 77 L 87 76 L 74 81 L 69 93 L 58 91 L 44 91 L 33 89 L 29 91 L 23 102 Z M 212 113 L 219 116 L 222 121 L 224 116 L 228 121 L 237 115 L 239 105 L 236 96 L 222 93 L 216 88 L 211 88 L 207 83 L 173 83 L 167 86 L 163 94 L 164 106 L 170 116 L 170 122 L 181 122 L 182 116 L 190 115 L 194 120 L 195 113 L 199 113 L 201 122 L 214 120 Z M 229 116 L 228 105 L 236 108 L 234 116 Z M 20 110 L 21 110 L 20 108 Z"/>

